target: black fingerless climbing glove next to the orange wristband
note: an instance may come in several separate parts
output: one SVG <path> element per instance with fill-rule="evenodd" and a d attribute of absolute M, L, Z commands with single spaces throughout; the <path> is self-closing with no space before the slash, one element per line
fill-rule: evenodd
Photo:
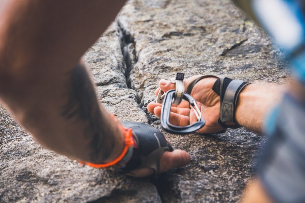
<path fill-rule="evenodd" d="M 130 160 L 120 171 L 128 173 L 135 169 L 151 168 L 158 174 L 160 157 L 165 151 L 174 150 L 163 133 L 146 123 L 122 121 L 121 124 L 124 128 L 132 128 L 136 146 Z"/>

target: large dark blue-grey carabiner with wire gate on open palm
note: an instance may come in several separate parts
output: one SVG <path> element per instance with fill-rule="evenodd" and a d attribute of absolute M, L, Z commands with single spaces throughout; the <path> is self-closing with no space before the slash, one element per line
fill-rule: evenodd
<path fill-rule="evenodd" d="M 183 94 L 183 99 L 188 101 L 190 103 L 190 106 L 192 106 L 192 109 L 195 112 L 195 115 L 198 119 L 197 122 L 190 124 L 188 126 L 175 126 L 173 124 L 170 124 L 170 107 L 173 104 L 174 97 L 175 97 L 175 89 L 167 91 L 164 99 L 163 99 L 163 105 L 161 109 L 161 125 L 162 127 L 169 132 L 172 133 L 190 133 L 199 130 L 202 128 L 205 124 L 205 120 L 201 117 L 201 112 L 196 104 L 195 99 L 189 95 L 188 93 Z"/>

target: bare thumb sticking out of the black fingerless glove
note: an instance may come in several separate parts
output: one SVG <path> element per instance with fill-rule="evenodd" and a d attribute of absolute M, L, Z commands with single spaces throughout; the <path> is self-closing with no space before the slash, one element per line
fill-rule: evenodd
<path fill-rule="evenodd" d="M 183 150 L 166 151 L 160 158 L 160 173 L 166 172 L 171 168 L 186 166 L 190 160 L 191 156 Z"/>

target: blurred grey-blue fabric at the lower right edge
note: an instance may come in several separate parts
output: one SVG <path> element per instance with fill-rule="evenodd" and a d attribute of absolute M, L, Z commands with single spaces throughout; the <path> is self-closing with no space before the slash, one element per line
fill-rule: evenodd
<path fill-rule="evenodd" d="M 305 202 L 305 104 L 287 94 L 277 111 L 258 173 L 276 202 Z"/>

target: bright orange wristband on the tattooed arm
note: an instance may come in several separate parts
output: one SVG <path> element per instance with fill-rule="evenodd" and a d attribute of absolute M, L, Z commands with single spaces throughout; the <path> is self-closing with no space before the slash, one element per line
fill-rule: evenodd
<path fill-rule="evenodd" d="M 81 164 L 85 164 L 94 168 L 106 168 L 109 166 L 113 166 L 116 163 L 118 163 L 120 160 L 123 159 L 123 157 L 126 155 L 128 149 L 135 144 L 135 141 L 133 139 L 132 136 L 132 129 L 128 129 L 128 128 L 124 128 L 121 124 L 118 124 L 119 127 L 122 129 L 122 131 L 124 132 L 125 135 L 125 139 L 124 139 L 124 144 L 125 147 L 123 149 L 123 152 L 120 154 L 120 156 L 118 156 L 116 159 L 108 162 L 108 163 L 103 163 L 103 164 L 95 164 L 95 163 L 88 163 L 88 162 L 80 162 Z"/>

